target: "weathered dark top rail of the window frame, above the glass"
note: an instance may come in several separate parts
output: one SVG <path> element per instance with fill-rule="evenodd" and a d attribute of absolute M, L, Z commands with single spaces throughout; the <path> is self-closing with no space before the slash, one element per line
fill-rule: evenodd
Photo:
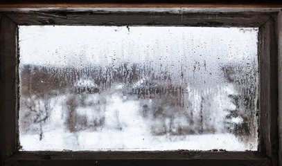
<path fill-rule="evenodd" d="M 259 27 L 268 14 L 247 13 L 186 13 L 167 12 L 9 12 L 8 17 L 19 25 L 100 25 L 100 26 L 220 26 Z"/>

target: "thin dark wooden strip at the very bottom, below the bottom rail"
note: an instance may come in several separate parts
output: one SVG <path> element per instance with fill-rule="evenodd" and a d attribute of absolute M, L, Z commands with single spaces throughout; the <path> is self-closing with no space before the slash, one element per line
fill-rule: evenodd
<path fill-rule="evenodd" d="M 189 166 L 242 166 L 242 165 L 254 165 L 265 166 L 270 165 L 265 160 L 17 160 L 14 163 L 8 163 L 7 165 L 122 165 L 122 166 L 134 166 L 134 165 L 189 165 Z"/>

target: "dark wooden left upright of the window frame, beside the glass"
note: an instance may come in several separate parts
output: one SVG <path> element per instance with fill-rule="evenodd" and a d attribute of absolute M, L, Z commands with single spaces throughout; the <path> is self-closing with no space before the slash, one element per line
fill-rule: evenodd
<path fill-rule="evenodd" d="M 0 26 L 0 147 L 1 163 L 17 147 L 17 25 L 7 17 Z"/>

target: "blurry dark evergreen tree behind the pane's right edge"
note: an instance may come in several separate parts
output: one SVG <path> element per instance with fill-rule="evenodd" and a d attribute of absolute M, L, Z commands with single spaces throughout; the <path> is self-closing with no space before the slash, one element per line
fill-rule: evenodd
<path fill-rule="evenodd" d="M 223 66 L 224 77 L 232 83 L 234 94 L 229 94 L 235 109 L 227 109 L 226 125 L 229 132 L 240 140 L 256 138 L 257 130 L 257 81 L 258 71 L 256 63 L 229 64 Z"/>

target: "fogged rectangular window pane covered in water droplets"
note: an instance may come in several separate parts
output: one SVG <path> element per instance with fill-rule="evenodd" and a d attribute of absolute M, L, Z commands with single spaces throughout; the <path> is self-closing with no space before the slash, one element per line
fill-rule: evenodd
<path fill-rule="evenodd" d="M 258 148 L 258 28 L 20 26 L 25 151 Z"/>

